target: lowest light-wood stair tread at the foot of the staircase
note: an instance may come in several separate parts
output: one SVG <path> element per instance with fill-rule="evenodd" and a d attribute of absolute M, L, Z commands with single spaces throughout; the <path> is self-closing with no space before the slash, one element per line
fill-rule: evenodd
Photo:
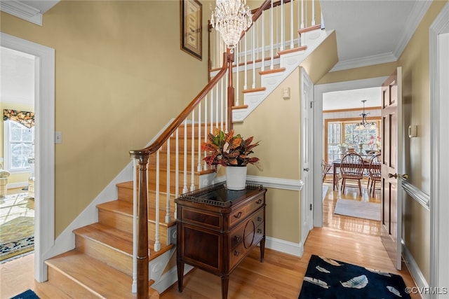
<path fill-rule="evenodd" d="M 136 298 L 131 293 L 132 277 L 76 249 L 46 260 L 45 263 L 100 298 Z M 152 294 L 156 291 L 149 288 L 149 292 Z"/>

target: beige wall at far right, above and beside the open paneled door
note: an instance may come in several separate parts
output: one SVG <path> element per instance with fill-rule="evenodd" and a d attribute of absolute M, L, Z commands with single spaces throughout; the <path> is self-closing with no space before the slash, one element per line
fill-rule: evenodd
<path fill-rule="evenodd" d="M 430 191 L 430 90 L 429 27 L 447 1 L 433 1 L 398 62 L 326 74 L 319 84 L 389 76 L 396 67 L 403 74 L 404 126 L 417 125 L 418 137 L 405 139 L 406 172 L 409 181 L 424 193 Z M 429 211 L 406 197 L 403 211 L 403 240 L 429 281 Z"/>

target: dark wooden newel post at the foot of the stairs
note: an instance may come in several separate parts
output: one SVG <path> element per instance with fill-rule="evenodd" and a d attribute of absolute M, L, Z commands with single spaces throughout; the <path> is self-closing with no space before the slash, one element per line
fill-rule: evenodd
<path fill-rule="evenodd" d="M 147 164 L 148 151 L 130 151 L 130 157 L 138 162 L 138 298 L 148 298 L 148 209 L 147 209 Z"/>

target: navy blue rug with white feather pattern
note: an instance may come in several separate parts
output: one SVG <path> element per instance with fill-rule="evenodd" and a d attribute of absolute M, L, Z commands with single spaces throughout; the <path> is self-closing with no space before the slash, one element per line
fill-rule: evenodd
<path fill-rule="evenodd" d="M 410 298 L 397 274 L 312 255 L 299 299 Z"/>

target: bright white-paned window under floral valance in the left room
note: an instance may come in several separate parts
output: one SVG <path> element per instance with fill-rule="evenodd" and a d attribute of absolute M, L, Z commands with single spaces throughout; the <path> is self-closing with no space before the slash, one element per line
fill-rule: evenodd
<path fill-rule="evenodd" d="M 34 127 L 25 127 L 13 120 L 6 120 L 5 169 L 9 172 L 29 172 L 28 158 L 34 158 Z"/>

